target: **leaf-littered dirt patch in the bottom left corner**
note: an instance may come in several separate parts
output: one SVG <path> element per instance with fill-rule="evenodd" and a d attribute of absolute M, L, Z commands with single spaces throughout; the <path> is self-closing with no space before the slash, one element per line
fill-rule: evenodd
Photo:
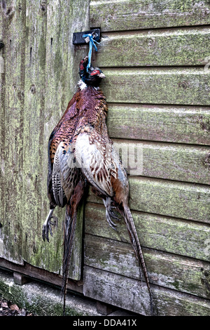
<path fill-rule="evenodd" d="M 15 303 L 0 298 L 0 316 L 34 316 L 25 308 L 19 308 Z"/>

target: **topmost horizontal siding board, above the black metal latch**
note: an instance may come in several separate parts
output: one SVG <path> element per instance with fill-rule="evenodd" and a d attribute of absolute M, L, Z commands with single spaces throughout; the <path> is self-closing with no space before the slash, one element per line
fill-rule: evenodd
<path fill-rule="evenodd" d="M 209 24 L 210 5 L 204 1 L 91 1 L 90 26 L 102 31 L 153 29 Z"/>

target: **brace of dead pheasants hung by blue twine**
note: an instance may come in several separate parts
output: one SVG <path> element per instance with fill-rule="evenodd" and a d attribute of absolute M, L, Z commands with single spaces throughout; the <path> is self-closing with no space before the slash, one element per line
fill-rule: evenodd
<path fill-rule="evenodd" d="M 104 74 L 97 67 L 87 67 L 88 57 L 80 62 L 78 91 L 51 133 L 48 144 L 48 197 L 50 212 L 43 225 L 43 239 L 52 235 L 50 219 L 56 206 L 66 206 L 64 225 L 63 290 L 64 306 L 71 258 L 76 212 L 88 183 L 102 197 L 106 220 L 114 229 L 113 219 L 123 216 L 135 255 L 143 268 L 148 291 L 150 284 L 137 230 L 128 206 L 127 174 L 113 148 L 106 127 L 107 104 L 99 83 Z M 65 308 L 65 307 L 64 307 Z"/>

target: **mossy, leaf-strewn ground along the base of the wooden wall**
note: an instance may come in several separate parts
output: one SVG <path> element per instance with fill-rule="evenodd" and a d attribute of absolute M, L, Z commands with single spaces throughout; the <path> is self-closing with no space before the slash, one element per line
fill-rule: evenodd
<path fill-rule="evenodd" d="M 41 282 L 15 284 L 13 275 L 0 270 L 0 316 L 62 316 L 60 289 Z M 2 305 L 3 303 L 3 305 Z M 131 316 L 116 310 L 109 316 Z M 97 302 L 73 293 L 66 295 L 66 316 L 102 316 Z"/>

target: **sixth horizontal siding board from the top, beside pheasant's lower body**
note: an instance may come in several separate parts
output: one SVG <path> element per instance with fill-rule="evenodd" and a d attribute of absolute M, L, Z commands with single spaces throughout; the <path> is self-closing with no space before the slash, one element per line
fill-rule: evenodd
<path fill-rule="evenodd" d="M 208 185 L 133 176 L 129 181 L 131 209 L 210 223 Z M 102 203 L 92 192 L 87 200 Z"/>

